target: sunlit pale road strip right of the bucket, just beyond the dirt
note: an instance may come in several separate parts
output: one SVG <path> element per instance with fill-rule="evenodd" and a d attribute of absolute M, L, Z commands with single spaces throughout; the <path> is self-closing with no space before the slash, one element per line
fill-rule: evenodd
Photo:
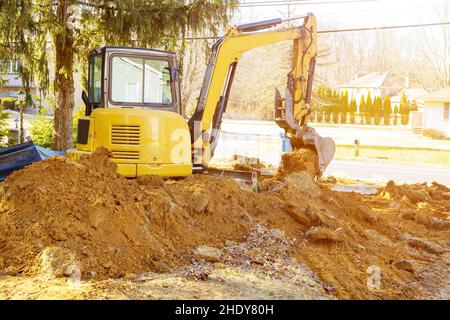
<path fill-rule="evenodd" d="M 394 180 L 397 183 L 431 183 L 436 181 L 450 187 L 450 168 L 444 167 L 333 160 L 325 171 L 325 175 L 380 182 Z"/>

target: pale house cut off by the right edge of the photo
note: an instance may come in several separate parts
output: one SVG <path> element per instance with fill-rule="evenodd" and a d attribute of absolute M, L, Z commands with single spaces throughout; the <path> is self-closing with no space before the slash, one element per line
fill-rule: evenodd
<path fill-rule="evenodd" d="M 425 101 L 424 129 L 435 129 L 450 137 L 450 88 L 431 92 L 422 100 Z"/>

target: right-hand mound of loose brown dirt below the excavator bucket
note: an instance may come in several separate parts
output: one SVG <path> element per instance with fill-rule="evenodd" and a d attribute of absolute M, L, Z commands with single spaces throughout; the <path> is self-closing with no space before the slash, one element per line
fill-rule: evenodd
<path fill-rule="evenodd" d="M 448 298 L 449 193 L 438 184 L 379 194 L 335 192 L 288 176 L 249 207 L 260 221 L 295 237 L 291 247 L 340 298 Z M 386 195 L 390 197 L 387 198 Z M 276 199 L 276 200 L 275 200 Z M 379 285 L 368 286 L 376 270 Z"/>

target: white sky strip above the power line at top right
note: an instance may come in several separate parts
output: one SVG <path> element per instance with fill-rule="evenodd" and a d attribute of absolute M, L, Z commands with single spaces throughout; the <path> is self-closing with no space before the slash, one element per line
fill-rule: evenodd
<path fill-rule="evenodd" d="M 288 5 L 284 2 L 293 3 Z M 328 27 L 368 27 L 400 24 L 440 22 L 439 5 L 450 0 L 240 0 L 233 23 L 286 17 L 313 12 L 319 30 Z M 254 5 L 270 6 L 254 6 Z M 248 6 L 248 7 L 246 7 Z M 293 11 L 293 12 L 292 12 Z"/>

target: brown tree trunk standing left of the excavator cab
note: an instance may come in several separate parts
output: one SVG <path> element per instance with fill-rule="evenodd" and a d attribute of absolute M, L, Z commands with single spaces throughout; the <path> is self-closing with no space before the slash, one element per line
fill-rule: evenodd
<path fill-rule="evenodd" d="M 55 44 L 55 134 L 53 149 L 65 151 L 72 148 L 72 113 L 74 109 L 73 81 L 73 31 L 67 27 L 67 8 L 71 0 L 59 1 L 57 15 L 65 26 L 53 36 Z"/>

